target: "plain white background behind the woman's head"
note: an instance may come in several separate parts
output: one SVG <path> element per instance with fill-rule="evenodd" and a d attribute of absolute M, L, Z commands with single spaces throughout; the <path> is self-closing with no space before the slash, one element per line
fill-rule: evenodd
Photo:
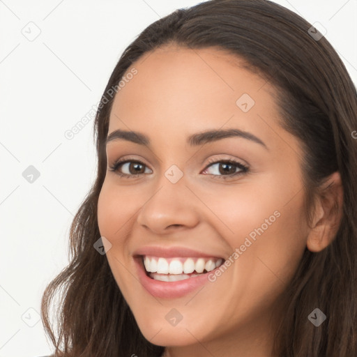
<path fill-rule="evenodd" d="M 275 2 L 326 28 L 356 84 L 357 0 Z M 93 118 L 73 139 L 64 132 L 97 105 L 140 31 L 196 3 L 0 0 L 0 357 L 52 352 L 36 311 L 68 263 L 70 222 L 96 176 Z"/>

